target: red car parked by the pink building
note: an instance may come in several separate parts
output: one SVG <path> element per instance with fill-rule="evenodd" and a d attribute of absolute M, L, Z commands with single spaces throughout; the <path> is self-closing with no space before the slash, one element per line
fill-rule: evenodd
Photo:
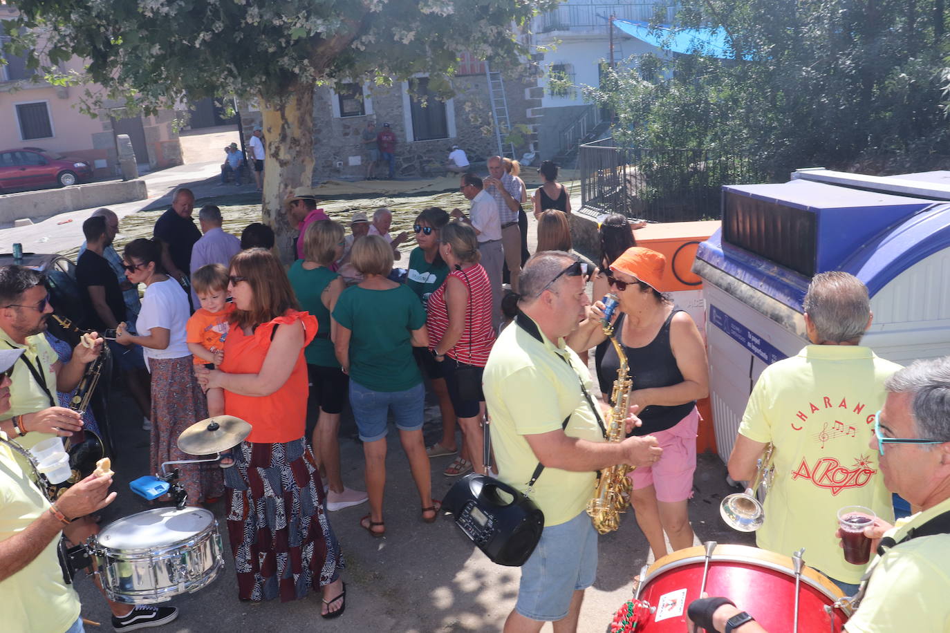
<path fill-rule="evenodd" d="M 0 151 L 0 192 L 66 187 L 92 177 L 92 166 L 80 158 L 67 158 L 39 147 Z"/>

